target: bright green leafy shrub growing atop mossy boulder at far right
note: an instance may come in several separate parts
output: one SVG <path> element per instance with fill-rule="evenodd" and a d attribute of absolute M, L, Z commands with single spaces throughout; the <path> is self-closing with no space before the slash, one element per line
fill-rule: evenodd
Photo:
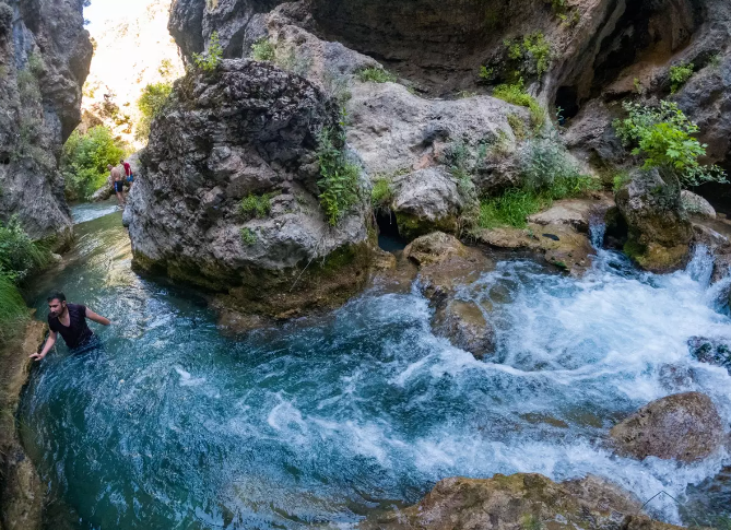
<path fill-rule="evenodd" d="M 651 107 L 625 102 L 623 106 L 628 116 L 614 120 L 614 129 L 625 146 L 634 148 L 632 153 L 644 158 L 645 168 L 671 172 L 684 187 L 726 181 L 721 168 L 698 163 L 707 145 L 693 137 L 698 126 L 675 103 L 663 101 L 660 106 Z"/>

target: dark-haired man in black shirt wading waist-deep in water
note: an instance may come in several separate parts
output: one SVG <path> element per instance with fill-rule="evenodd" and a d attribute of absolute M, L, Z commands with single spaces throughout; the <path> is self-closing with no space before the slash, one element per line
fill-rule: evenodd
<path fill-rule="evenodd" d="M 109 326 L 111 323 L 109 319 L 97 315 L 86 306 L 67 304 L 63 293 L 54 293 L 47 299 L 50 333 L 43 351 L 31 355 L 31 358 L 35 358 L 36 361 L 44 358 L 50 349 L 54 348 L 58 339 L 58 333 L 61 333 L 69 350 L 87 345 L 94 337 L 94 332 L 86 326 L 87 318 L 102 326 Z"/>

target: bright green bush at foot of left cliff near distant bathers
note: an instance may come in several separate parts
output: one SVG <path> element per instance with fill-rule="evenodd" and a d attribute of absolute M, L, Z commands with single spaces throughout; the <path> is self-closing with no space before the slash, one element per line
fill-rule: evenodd
<path fill-rule="evenodd" d="M 116 166 L 125 156 L 125 145 L 105 126 L 73 131 L 61 153 L 61 173 L 69 200 L 87 199 L 107 181 L 107 164 Z"/>

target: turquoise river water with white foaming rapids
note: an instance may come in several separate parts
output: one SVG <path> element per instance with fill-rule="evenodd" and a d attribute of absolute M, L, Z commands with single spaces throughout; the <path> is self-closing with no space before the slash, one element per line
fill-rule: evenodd
<path fill-rule="evenodd" d="M 69 260 L 36 285 L 39 315 L 58 287 L 114 322 L 95 328 L 99 351 L 49 354 L 24 394 L 49 529 L 351 528 L 445 476 L 518 471 L 683 500 L 731 463 L 605 448 L 615 421 L 677 391 L 708 393 L 731 421 L 731 376 L 686 346 L 731 340 L 703 249 L 667 276 L 604 251 L 580 281 L 502 261 L 460 293 L 492 306 L 498 354 L 477 362 L 432 334 L 416 288 L 226 338 L 200 296 L 130 270 L 121 215 L 92 219 L 104 208 L 86 208 Z M 681 521 L 667 496 L 649 509 Z"/>

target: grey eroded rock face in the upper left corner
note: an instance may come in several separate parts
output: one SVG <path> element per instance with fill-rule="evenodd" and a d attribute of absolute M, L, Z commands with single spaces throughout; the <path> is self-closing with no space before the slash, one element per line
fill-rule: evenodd
<path fill-rule="evenodd" d="M 35 238 L 71 235 L 58 158 L 91 60 L 82 0 L 0 1 L 0 220 Z"/>

